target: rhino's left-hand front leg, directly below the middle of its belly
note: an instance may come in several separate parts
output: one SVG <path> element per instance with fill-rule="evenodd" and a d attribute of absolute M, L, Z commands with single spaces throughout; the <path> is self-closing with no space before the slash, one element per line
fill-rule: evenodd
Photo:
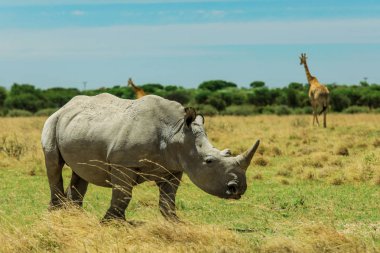
<path fill-rule="evenodd" d="M 111 219 L 125 220 L 125 209 L 132 199 L 132 189 L 136 185 L 137 175 L 132 170 L 125 171 L 120 168 L 112 168 L 111 206 L 104 215 L 103 221 Z"/>

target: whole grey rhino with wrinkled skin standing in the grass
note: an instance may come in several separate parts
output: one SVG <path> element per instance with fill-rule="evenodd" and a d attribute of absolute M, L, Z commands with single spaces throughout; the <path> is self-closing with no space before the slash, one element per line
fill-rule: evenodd
<path fill-rule="evenodd" d="M 132 188 L 147 180 L 159 187 L 159 206 L 176 219 L 175 195 L 182 173 L 207 193 L 239 199 L 259 142 L 232 157 L 207 139 L 203 117 L 158 96 L 125 100 L 110 94 L 77 96 L 50 116 L 42 131 L 51 207 L 70 199 L 82 205 L 88 183 L 112 187 L 104 219 L 125 219 Z M 66 193 L 62 167 L 73 171 Z"/>

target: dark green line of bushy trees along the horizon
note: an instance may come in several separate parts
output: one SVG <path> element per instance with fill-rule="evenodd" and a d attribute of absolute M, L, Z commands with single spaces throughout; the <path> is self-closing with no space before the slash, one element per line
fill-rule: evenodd
<path fill-rule="evenodd" d="M 380 112 L 380 85 L 366 81 L 358 85 L 326 85 L 330 91 L 329 110 L 358 113 Z M 249 88 L 233 82 L 210 80 L 197 88 L 177 85 L 144 84 L 148 94 L 155 94 L 186 106 L 193 106 L 207 115 L 303 114 L 310 113 L 308 84 L 292 82 L 281 88 L 270 88 L 263 81 L 253 81 Z M 134 99 L 130 87 L 113 86 L 94 90 L 76 88 L 39 89 L 31 84 L 14 83 L 9 90 L 0 86 L 0 115 L 49 115 L 76 95 L 108 92 L 125 99 Z"/>

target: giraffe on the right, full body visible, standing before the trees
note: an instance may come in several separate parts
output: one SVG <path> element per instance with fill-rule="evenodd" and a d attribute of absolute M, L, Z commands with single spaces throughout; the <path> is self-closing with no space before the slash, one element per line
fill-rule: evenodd
<path fill-rule="evenodd" d="M 319 112 L 319 115 L 323 113 L 323 127 L 326 128 L 326 114 L 327 114 L 327 106 L 329 103 L 329 90 L 326 86 L 319 83 L 318 79 L 315 76 L 310 74 L 309 68 L 307 67 L 307 57 L 306 54 L 301 54 L 300 56 L 300 65 L 304 65 L 306 78 L 309 82 L 309 98 L 311 102 L 311 106 L 313 107 L 313 125 L 315 121 L 319 126 L 318 121 L 318 107 L 322 107 L 322 110 Z"/>

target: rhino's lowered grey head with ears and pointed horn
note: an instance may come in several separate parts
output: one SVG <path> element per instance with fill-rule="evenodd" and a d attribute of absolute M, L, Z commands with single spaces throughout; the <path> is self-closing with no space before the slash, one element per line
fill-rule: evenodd
<path fill-rule="evenodd" d="M 246 170 L 260 141 L 235 157 L 228 149 L 220 151 L 207 139 L 203 116 L 192 108 L 185 109 L 183 137 L 177 154 L 191 181 L 209 194 L 239 199 L 247 189 Z"/>

